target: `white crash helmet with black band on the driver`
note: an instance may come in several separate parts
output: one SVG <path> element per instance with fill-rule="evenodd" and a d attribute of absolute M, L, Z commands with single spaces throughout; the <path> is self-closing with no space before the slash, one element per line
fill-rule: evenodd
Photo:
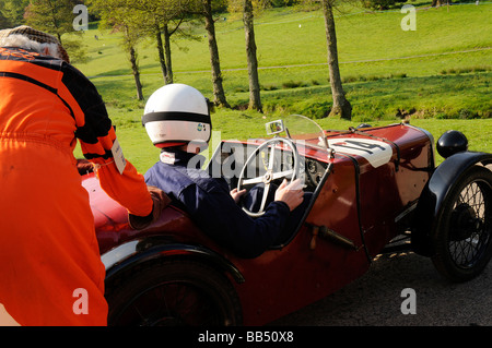
<path fill-rule="evenodd" d="M 208 100 L 196 88 L 168 84 L 155 91 L 145 104 L 142 123 L 156 147 L 210 141 L 212 122 Z"/>

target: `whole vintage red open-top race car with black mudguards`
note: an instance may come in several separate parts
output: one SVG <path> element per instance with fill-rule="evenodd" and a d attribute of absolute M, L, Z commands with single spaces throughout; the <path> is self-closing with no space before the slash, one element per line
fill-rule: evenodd
<path fill-rule="evenodd" d="M 454 281 L 488 264 L 492 155 L 468 152 L 461 133 L 435 143 L 409 123 L 330 131 L 301 116 L 267 130 L 269 139 L 222 141 L 207 166 L 231 188 L 302 178 L 313 192 L 291 238 L 255 259 L 218 245 L 174 204 L 133 230 L 84 176 L 109 325 L 263 325 L 342 288 L 387 251 L 429 256 Z M 437 167 L 435 147 L 446 158 Z"/>

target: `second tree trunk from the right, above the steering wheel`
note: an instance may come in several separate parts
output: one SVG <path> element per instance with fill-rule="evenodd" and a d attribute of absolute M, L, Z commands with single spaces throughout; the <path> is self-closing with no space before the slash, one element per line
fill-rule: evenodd
<path fill-rule="evenodd" d="M 260 87 L 258 79 L 258 60 L 256 58 L 255 28 L 253 23 L 251 0 L 244 0 L 244 31 L 246 36 L 246 56 L 249 77 L 249 109 L 262 112 Z"/>

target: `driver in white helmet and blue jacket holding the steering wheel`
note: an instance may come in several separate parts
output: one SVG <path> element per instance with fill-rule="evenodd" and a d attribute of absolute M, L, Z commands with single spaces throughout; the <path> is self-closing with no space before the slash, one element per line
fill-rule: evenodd
<path fill-rule="evenodd" d="M 211 134 L 207 101 L 199 91 L 184 84 L 165 85 L 149 98 L 142 122 L 162 151 L 161 160 L 144 175 L 145 182 L 181 205 L 219 244 L 239 257 L 256 257 L 292 235 L 308 200 L 298 182 L 284 180 L 265 214 L 254 219 L 237 205 L 241 196 L 246 199 L 245 190 L 230 191 L 224 178 L 199 169 L 204 158 L 198 153 L 208 147 Z"/>

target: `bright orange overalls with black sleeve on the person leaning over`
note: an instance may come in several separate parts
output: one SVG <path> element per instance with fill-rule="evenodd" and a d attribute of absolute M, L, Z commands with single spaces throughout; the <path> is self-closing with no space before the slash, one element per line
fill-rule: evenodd
<path fill-rule="evenodd" d="M 73 148 L 102 188 L 147 216 L 143 177 L 113 163 L 116 139 L 94 85 L 72 65 L 0 47 L 0 303 L 21 325 L 106 325 L 105 269 Z"/>

